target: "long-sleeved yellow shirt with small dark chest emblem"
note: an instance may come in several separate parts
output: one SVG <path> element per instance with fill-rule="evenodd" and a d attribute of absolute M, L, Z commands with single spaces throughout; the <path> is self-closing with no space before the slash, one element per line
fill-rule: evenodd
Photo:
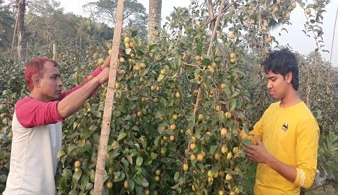
<path fill-rule="evenodd" d="M 300 187 L 309 188 L 314 182 L 317 164 L 319 127 L 304 102 L 291 107 L 279 107 L 275 102 L 266 109 L 254 125 L 254 134 L 268 152 L 284 164 L 297 169 L 294 182 L 286 180 L 266 164 L 259 163 L 254 194 L 300 194 Z M 244 131 L 240 133 L 246 137 Z M 249 138 L 251 139 L 251 138 Z"/>

